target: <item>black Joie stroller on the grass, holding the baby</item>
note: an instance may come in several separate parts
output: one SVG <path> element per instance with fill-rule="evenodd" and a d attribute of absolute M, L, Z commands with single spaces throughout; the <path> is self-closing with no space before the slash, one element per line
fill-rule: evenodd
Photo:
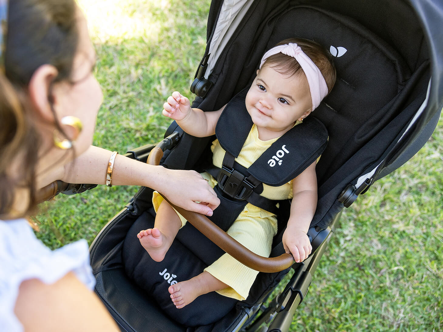
<path fill-rule="evenodd" d="M 442 4 L 437 0 L 385 0 L 378 6 L 361 0 L 212 1 L 207 47 L 191 86 L 197 95 L 193 107 L 219 109 L 250 86 L 261 56 L 282 39 L 313 39 L 335 56 L 337 83 L 311 114 L 329 133 L 316 167 L 319 199 L 308 233 L 313 254 L 282 271 L 259 273 L 245 301 L 207 294 L 195 301 L 200 311 L 189 311 L 188 317 L 177 321 L 166 305 L 158 303 L 155 292 L 142 289 L 144 281 L 154 280 L 154 275 L 164 284 L 172 273 L 163 278 L 166 273 L 159 265 L 158 270 L 147 269 L 152 276 L 144 275 L 140 281 L 140 276 L 125 270 L 124 258 L 131 254 L 141 257 L 144 251 L 141 246 L 132 251 L 136 246 L 130 241 L 138 242 L 134 232 L 154 223 L 152 189 L 142 187 L 90 247 L 96 292 L 122 331 L 256 331 L 266 330 L 260 326 L 271 318 L 268 331 L 289 329 L 343 207 L 349 207 L 375 180 L 400 167 L 424 145 L 443 106 L 443 47 L 438 39 Z M 210 160 L 208 148 L 214 137 L 191 137 L 175 123 L 165 137 L 159 144 L 164 150 L 164 167 L 201 171 Z M 153 148 L 136 148 L 127 156 L 144 162 Z M 71 192 L 81 190 L 70 188 Z M 271 257 L 284 254 L 282 234 L 289 204 L 280 202 L 279 231 Z M 176 265 L 167 270 L 189 275 L 201 272 L 222 254 L 190 223 L 180 230 L 170 251 Z M 228 253 L 236 257 L 236 253 Z M 144 253 L 143 262 L 147 256 Z M 290 269 L 295 272 L 284 290 L 264 307 Z"/>

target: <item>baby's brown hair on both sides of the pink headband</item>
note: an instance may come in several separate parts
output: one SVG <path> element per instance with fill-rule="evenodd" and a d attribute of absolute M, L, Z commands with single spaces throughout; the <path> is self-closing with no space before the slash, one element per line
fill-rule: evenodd
<path fill-rule="evenodd" d="M 328 87 L 329 94 L 335 84 L 336 78 L 332 55 L 330 55 L 330 53 L 326 51 L 326 49 L 319 43 L 303 38 L 285 39 L 282 40 L 280 43 L 277 43 L 275 46 L 288 43 L 296 43 L 302 49 L 302 51 L 315 63 L 315 65 L 319 67 L 319 70 L 321 71 L 323 78 L 326 81 L 326 86 Z M 300 66 L 299 62 L 295 60 L 295 58 L 283 53 L 271 55 L 268 59 L 266 59 L 263 66 L 271 66 L 280 74 L 288 75 L 289 77 L 291 77 L 292 75 L 298 75 L 303 72 L 302 67 Z"/>

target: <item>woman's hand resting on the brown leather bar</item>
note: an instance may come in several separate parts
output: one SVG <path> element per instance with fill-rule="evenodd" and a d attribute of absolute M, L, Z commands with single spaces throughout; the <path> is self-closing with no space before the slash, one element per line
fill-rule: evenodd
<path fill-rule="evenodd" d="M 202 215 L 211 216 L 212 210 L 220 204 L 214 189 L 195 171 L 163 168 L 155 189 L 171 203 Z"/>

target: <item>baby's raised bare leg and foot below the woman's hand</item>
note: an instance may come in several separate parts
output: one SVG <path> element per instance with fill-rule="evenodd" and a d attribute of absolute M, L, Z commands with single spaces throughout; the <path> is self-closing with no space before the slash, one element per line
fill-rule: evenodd
<path fill-rule="evenodd" d="M 167 201 L 163 201 L 155 216 L 154 228 L 141 230 L 137 238 L 149 256 L 154 261 L 161 262 L 181 226 L 182 222 L 175 210 Z"/>

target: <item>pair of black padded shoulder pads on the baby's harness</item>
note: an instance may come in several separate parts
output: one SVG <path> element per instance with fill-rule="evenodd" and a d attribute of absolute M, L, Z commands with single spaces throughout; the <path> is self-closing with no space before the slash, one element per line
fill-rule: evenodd
<path fill-rule="evenodd" d="M 220 115 L 215 134 L 225 151 L 238 157 L 253 122 L 246 110 L 248 89 L 240 91 Z M 328 141 L 326 127 L 312 115 L 275 141 L 249 168 L 260 182 L 281 186 L 294 179 L 324 151 Z"/>

